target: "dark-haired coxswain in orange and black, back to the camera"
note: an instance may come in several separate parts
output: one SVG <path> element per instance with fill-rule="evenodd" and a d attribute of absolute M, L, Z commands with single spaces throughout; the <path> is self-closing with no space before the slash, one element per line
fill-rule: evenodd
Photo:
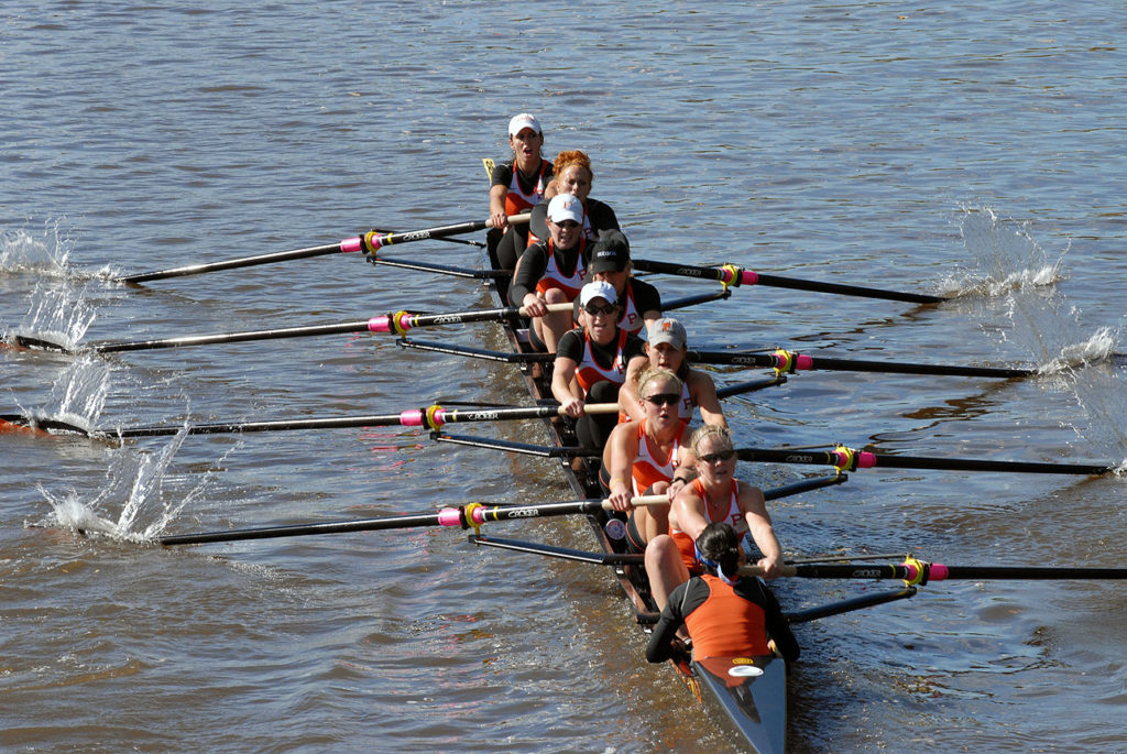
<path fill-rule="evenodd" d="M 649 637 L 646 659 L 668 659 L 682 626 L 693 640 L 694 660 L 770 655 L 769 640 L 788 663 L 798 659 L 798 640 L 774 595 L 758 578 L 736 575 L 745 559 L 736 530 L 726 521 L 709 524 L 696 538 L 696 552 L 703 573 L 673 589 Z"/>

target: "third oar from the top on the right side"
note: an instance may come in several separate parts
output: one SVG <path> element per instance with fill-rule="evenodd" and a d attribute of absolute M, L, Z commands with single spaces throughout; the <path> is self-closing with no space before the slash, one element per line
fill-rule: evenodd
<path fill-rule="evenodd" d="M 1029 461 L 978 461 L 970 459 L 944 459 L 920 455 L 885 455 L 858 451 L 838 445 L 832 451 L 807 449 L 757 449 L 742 447 L 736 451 L 740 461 L 767 463 L 808 463 L 832 465 L 842 471 L 857 469 L 939 469 L 946 471 L 1009 471 L 1014 473 L 1075 473 L 1098 476 L 1115 471 L 1116 467 L 1092 463 L 1041 463 Z"/>

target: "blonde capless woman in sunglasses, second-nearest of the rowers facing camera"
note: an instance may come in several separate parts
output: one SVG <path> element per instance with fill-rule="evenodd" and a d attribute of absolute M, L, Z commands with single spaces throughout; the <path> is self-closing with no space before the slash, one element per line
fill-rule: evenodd
<path fill-rule="evenodd" d="M 689 422 L 677 416 L 681 380 L 668 370 L 646 370 L 638 379 L 645 416 L 619 424 L 603 450 L 598 481 L 615 511 L 631 511 L 630 498 L 681 491 L 692 469 Z M 621 393 L 620 393 L 621 394 Z M 627 521 L 627 542 L 635 552 L 668 530 L 669 506 L 633 508 Z"/>

